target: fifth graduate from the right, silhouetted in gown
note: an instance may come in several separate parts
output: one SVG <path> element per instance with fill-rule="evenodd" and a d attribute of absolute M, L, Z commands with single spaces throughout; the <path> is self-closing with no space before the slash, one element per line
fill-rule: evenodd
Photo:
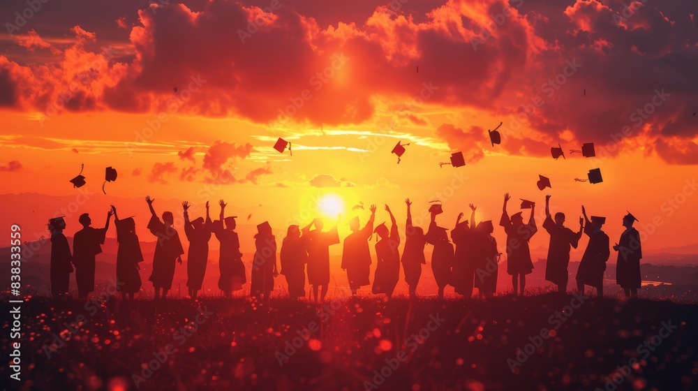
<path fill-rule="evenodd" d="M 491 220 L 482 221 L 475 228 L 475 288 L 481 295 L 491 296 L 497 290 L 499 258 L 497 241 L 492 236 L 494 225 Z"/>

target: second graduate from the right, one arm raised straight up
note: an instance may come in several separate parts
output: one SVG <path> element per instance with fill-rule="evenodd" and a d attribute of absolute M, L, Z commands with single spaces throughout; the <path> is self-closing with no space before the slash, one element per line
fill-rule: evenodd
<path fill-rule="evenodd" d="M 584 256 L 581 257 L 579 270 L 577 270 L 577 290 L 584 293 L 584 286 L 596 288 L 597 295 L 604 295 L 604 272 L 606 271 L 606 261 L 611 255 L 609 249 L 609 237 L 601 230 L 606 221 L 605 217 L 591 216 L 591 221 L 586 216 L 586 209 L 581 207 L 581 214 L 584 214 L 584 233 L 589 237 Z"/>

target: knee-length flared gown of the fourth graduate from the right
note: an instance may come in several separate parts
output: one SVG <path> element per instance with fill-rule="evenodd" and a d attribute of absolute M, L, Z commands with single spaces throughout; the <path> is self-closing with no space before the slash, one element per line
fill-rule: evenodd
<path fill-rule="evenodd" d="M 530 260 L 528 241 L 538 231 L 533 214 L 530 215 L 527 224 L 514 225 L 507 212 L 504 212 L 499 225 L 503 226 L 504 232 L 507 233 L 507 273 L 512 276 L 532 273 L 533 261 Z"/>

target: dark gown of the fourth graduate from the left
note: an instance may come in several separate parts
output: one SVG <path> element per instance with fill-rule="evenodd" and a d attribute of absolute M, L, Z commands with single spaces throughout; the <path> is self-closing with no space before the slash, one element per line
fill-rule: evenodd
<path fill-rule="evenodd" d="M 173 227 L 165 226 L 165 223 L 160 221 L 158 216 L 151 216 L 148 229 L 158 237 L 153 256 L 153 272 L 148 280 L 155 287 L 172 289 L 177 257 L 184 254 L 184 249 L 181 248 L 181 242 L 179 242 L 179 234 Z"/>

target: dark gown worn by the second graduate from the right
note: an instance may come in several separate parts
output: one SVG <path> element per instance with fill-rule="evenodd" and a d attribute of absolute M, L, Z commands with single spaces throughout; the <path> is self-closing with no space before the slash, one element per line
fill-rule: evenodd
<path fill-rule="evenodd" d="M 589 237 L 584 256 L 577 270 L 577 282 L 598 288 L 603 286 L 606 261 L 611 255 L 609 237 L 602 230 L 594 231 L 591 223 L 586 223 L 584 233 Z"/>

